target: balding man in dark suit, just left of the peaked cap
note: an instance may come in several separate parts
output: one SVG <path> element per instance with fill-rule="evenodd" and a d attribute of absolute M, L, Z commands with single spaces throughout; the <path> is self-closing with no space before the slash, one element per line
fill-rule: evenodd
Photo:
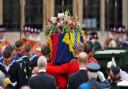
<path fill-rule="evenodd" d="M 78 89 L 80 84 L 88 81 L 86 60 L 88 55 L 81 52 L 78 55 L 79 71 L 72 74 L 68 80 L 68 89 Z"/>

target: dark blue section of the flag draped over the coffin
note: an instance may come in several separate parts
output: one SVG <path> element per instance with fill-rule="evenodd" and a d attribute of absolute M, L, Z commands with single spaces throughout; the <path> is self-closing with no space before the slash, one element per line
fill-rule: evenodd
<path fill-rule="evenodd" d="M 74 59 L 73 54 L 69 51 L 69 46 L 62 41 L 64 35 L 65 34 L 59 35 L 58 49 L 55 59 L 55 64 L 57 65 L 67 63 Z"/>

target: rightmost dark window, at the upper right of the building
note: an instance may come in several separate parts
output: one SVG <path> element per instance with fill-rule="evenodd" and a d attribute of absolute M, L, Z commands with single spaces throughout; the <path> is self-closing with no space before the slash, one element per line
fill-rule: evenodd
<path fill-rule="evenodd" d="M 122 25 L 122 0 L 105 0 L 105 28 Z"/>

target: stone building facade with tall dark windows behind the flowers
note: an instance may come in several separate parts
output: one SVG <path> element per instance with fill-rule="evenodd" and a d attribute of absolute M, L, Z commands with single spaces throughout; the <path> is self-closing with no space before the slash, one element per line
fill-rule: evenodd
<path fill-rule="evenodd" d="M 111 27 L 128 28 L 128 0 L 0 0 L 0 24 L 20 32 L 25 24 L 45 26 L 51 16 L 70 10 L 89 31 L 102 35 Z"/>

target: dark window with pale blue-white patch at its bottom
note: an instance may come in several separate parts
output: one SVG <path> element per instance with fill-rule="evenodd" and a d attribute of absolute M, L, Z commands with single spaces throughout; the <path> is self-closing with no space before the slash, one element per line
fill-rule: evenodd
<path fill-rule="evenodd" d="M 83 0 L 83 23 L 87 30 L 100 29 L 100 0 Z"/>

